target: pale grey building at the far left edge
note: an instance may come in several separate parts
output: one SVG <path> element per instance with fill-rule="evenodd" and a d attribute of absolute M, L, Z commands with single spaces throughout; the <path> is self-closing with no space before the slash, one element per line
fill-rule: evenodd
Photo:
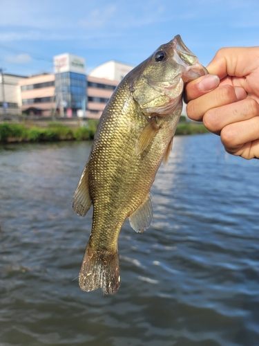
<path fill-rule="evenodd" d="M 0 74 L 0 114 L 16 115 L 21 113 L 21 75 Z"/>

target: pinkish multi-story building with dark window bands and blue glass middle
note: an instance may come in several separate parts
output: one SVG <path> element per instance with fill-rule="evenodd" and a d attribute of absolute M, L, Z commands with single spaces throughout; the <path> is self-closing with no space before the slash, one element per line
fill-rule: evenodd
<path fill-rule="evenodd" d="M 55 80 L 54 74 L 35 75 L 21 80 L 21 111 L 35 116 L 62 116 L 63 112 L 63 115 L 68 117 L 99 118 L 119 81 L 87 76 L 84 80 L 77 82 L 73 78 L 66 78 L 67 73 L 61 76 L 61 81 Z M 85 91 L 84 95 L 79 93 L 69 95 L 69 89 L 73 91 L 74 84 L 80 82 L 86 84 L 84 89 L 87 93 Z M 58 86 L 55 87 L 55 83 Z M 79 89 L 80 86 L 75 88 Z M 59 89 L 64 91 L 62 95 Z M 77 89 L 75 91 L 77 92 Z M 79 98 L 75 99 L 77 95 Z"/>

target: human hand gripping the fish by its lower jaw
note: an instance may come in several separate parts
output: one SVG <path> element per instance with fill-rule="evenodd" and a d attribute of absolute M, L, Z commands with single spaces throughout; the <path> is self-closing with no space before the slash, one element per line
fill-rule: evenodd
<path fill-rule="evenodd" d="M 186 84 L 187 115 L 220 135 L 230 154 L 259 158 L 259 47 L 222 48 L 207 69 Z"/>

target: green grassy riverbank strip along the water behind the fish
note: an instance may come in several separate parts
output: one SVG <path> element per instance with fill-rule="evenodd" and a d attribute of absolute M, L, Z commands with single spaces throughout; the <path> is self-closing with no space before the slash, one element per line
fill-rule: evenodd
<path fill-rule="evenodd" d="M 3 122 L 0 124 L 0 143 L 90 140 L 93 139 L 96 127 L 97 120 L 88 120 L 86 127 L 78 127 L 77 129 L 71 129 L 57 122 L 50 122 L 47 127 Z M 206 132 L 208 131 L 202 124 L 180 122 L 175 134 L 203 134 Z"/>

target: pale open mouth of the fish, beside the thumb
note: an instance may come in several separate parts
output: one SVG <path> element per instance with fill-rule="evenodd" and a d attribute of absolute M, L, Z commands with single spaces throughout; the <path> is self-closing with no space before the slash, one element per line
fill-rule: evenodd
<path fill-rule="evenodd" d="M 207 69 L 202 66 L 198 57 L 191 53 L 189 48 L 185 46 L 180 35 L 176 35 L 172 39 L 171 44 L 173 46 L 173 60 L 184 66 L 182 80 L 185 83 L 209 73 Z"/>

